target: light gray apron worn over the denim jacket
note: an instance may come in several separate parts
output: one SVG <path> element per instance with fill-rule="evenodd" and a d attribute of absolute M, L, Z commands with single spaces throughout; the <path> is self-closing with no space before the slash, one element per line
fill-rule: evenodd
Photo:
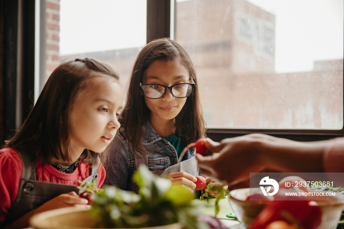
<path fill-rule="evenodd" d="M 148 156 L 144 155 L 141 158 L 135 157 L 135 165 L 136 169 L 139 168 L 139 165 L 144 164 L 148 167 Z M 198 176 L 199 175 L 199 168 L 197 164 L 197 160 L 195 155 L 187 159 L 185 161 L 179 162 L 177 164 L 174 164 L 167 168 L 166 170 L 158 170 L 158 171 L 151 171 L 161 177 L 166 177 L 170 173 L 175 173 L 175 172 L 186 172 L 189 173 L 190 175 L 193 176 Z"/>

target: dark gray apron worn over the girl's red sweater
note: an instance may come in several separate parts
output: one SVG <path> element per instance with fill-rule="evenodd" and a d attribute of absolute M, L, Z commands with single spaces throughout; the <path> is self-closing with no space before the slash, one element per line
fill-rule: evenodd
<path fill-rule="evenodd" d="M 83 192 L 83 190 L 78 189 L 78 186 L 75 185 L 37 181 L 34 162 L 29 159 L 29 156 L 26 153 L 17 152 L 23 163 L 22 177 L 20 179 L 17 197 L 12 204 L 4 223 L 0 225 L 0 228 L 61 194 L 72 191 L 76 193 Z M 83 183 L 95 180 L 96 185 L 98 186 L 98 166 L 99 165 L 92 167 L 90 176 L 88 176 Z"/>

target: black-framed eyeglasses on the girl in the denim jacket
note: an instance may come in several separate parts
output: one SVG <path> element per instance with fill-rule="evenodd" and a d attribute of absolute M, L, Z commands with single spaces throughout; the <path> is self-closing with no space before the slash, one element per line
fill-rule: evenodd
<path fill-rule="evenodd" d="M 140 87 L 143 90 L 144 96 L 149 99 L 159 99 L 164 97 L 167 90 L 170 90 L 175 98 L 185 98 L 191 95 L 192 89 L 195 87 L 195 83 L 183 83 L 172 86 L 143 85 L 140 83 Z"/>

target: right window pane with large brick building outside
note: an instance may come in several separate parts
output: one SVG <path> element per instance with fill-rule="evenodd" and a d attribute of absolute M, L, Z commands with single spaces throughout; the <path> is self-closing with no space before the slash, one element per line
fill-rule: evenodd
<path fill-rule="evenodd" d="M 343 129 L 342 0 L 176 0 L 207 126 Z"/>

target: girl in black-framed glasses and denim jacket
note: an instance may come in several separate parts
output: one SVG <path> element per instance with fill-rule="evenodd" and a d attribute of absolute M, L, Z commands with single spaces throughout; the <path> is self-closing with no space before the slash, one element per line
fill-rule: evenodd
<path fill-rule="evenodd" d="M 175 41 L 156 39 L 141 50 L 120 122 L 107 148 L 105 184 L 137 191 L 132 176 L 145 164 L 172 183 L 196 187 L 194 149 L 180 155 L 186 145 L 205 136 L 205 122 L 194 65 Z"/>

